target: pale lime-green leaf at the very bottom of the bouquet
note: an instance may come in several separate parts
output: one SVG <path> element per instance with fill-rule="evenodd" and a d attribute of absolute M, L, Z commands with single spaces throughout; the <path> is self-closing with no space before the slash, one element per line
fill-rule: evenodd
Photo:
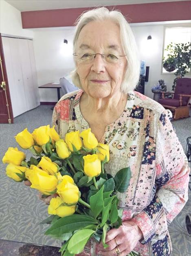
<path fill-rule="evenodd" d="M 91 229 L 81 229 L 77 231 L 69 240 L 68 251 L 73 254 L 81 253 L 94 232 L 95 231 Z"/>

